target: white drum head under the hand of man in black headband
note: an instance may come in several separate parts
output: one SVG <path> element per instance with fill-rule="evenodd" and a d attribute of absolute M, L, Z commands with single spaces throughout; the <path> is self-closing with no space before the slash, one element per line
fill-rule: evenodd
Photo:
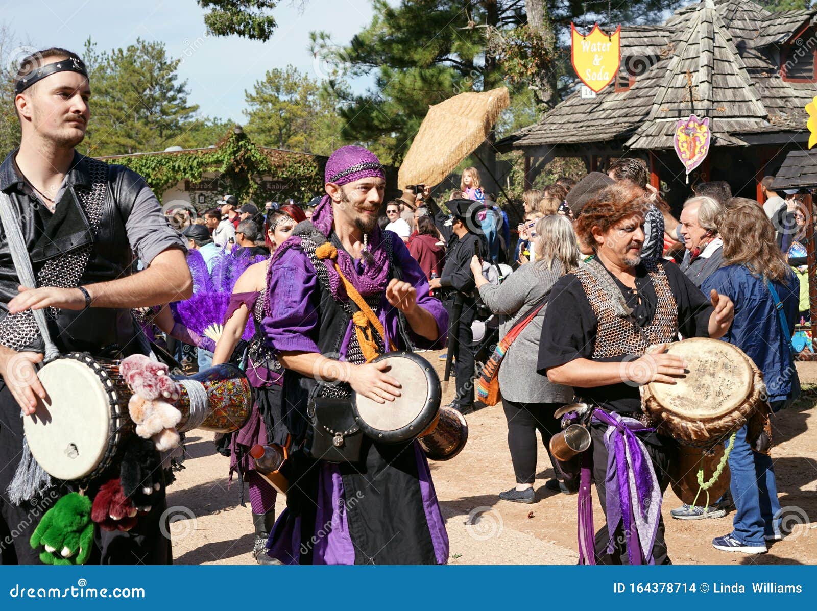
<path fill-rule="evenodd" d="M 52 477 L 82 479 L 105 456 L 110 399 L 96 372 L 75 359 L 57 359 L 38 372 L 47 392 L 23 417 L 32 456 Z"/>

